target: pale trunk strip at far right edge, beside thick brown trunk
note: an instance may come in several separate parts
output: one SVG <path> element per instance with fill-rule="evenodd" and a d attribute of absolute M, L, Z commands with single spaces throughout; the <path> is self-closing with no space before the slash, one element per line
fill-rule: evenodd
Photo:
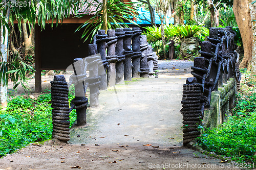
<path fill-rule="evenodd" d="M 252 0 L 249 0 L 249 9 L 251 14 L 251 20 L 256 19 L 256 6 L 255 4 L 251 5 Z M 256 22 L 253 21 L 252 29 L 256 28 Z M 256 29 L 252 30 L 252 58 L 251 58 L 251 75 L 256 75 Z M 256 81 L 256 77 L 252 76 L 252 79 Z"/>

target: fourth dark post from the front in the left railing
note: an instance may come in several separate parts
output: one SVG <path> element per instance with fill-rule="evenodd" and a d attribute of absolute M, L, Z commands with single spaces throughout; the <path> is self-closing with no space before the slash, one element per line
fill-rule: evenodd
<path fill-rule="evenodd" d="M 108 39 L 108 35 L 105 34 L 105 30 L 99 30 L 98 34 L 96 34 L 96 43 L 98 47 L 98 53 L 100 53 L 100 57 L 102 59 L 104 69 L 106 71 L 108 67 L 108 60 L 106 60 L 106 40 Z M 100 76 L 100 84 L 99 84 L 99 89 L 100 90 L 105 90 L 107 87 L 106 85 L 106 75 L 103 74 Z"/>

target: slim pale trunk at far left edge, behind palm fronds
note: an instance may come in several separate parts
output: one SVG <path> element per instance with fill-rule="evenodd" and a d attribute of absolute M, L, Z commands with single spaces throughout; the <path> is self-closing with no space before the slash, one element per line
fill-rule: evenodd
<path fill-rule="evenodd" d="M 5 37 L 3 35 L 3 30 L 5 29 Z M 4 40 L 5 39 L 5 40 Z M 2 53 L 2 62 L 7 61 L 7 55 L 8 55 L 8 30 L 5 27 L 1 28 L 1 53 Z M 7 87 L 8 85 L 3 86 L 3 83 L 1 82 L 1 105 L 3 108 L 7 107 Z"/>

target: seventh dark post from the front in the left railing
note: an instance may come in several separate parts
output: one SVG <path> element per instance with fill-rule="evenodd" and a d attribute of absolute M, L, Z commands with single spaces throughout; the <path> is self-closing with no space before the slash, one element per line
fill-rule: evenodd
<path fill-rule="evenodd" d="M 123 49 L 125 59 L 123 61 L 123 77 L 124 81 L 132 81 L 132 55 L 131 41 L 133 31 L 130 28 L 124 28 L 125 36 L 123 38 Z"/>

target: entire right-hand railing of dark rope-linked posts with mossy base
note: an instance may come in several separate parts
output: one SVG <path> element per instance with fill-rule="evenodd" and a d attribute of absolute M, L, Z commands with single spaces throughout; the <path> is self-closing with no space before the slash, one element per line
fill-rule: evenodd
<path fill-rule="evenodd" d="M 241 79 L 235 36 L 232 27 L 211 28 L 194 59 L 194 77 L 183 85 L 181 102 L 184 145 L 200 136 L 199 125 L 217 127 L 234 106 Z"/>

